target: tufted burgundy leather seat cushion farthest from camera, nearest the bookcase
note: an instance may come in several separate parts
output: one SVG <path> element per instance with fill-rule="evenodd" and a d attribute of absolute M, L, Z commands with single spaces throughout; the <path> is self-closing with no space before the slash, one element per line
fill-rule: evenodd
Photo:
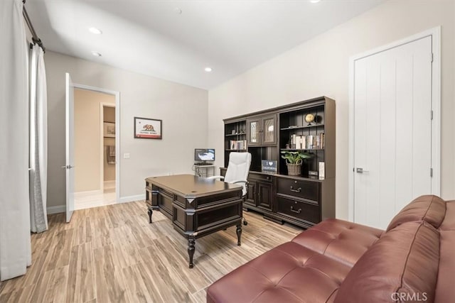
<path fill-rule="evenodd" d="M 383 231 L 339 219 L 326 219 L 292 241 L 348 265 L 350 268 Z"/>

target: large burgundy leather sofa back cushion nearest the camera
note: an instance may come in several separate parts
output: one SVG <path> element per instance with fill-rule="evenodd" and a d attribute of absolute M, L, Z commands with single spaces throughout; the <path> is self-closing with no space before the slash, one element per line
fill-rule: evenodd
<path fill-rule="evenodd" d="M 350 270 L 335 302 L 434 302 L 439 231 L 426 221 L 385 233 Z"/>

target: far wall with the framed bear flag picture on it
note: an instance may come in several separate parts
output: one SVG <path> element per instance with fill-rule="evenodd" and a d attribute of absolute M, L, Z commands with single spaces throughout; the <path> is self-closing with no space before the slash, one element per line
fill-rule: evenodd
<path fill-rule="evenodd" d="M 107 65 L 45 53 L 48 80 L 48 206 L 65 204 L 65 72 L 73 82 L 120 92 L 120 197 L 144 195 L 144 178 L 193 173 L 207 145 L 207 91 Z M 134 139 L 134 116 L 163 120 L 163 140 Z M 75 168 L 77 169 L 77 167 Z"/>

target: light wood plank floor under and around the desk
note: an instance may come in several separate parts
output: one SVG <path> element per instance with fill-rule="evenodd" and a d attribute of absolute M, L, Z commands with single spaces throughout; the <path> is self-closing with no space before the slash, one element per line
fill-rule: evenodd
<path fill-rule="evenodd" d="M 22 277 L 0 282 L 0 302 L 205 302 L 215 280 L 301 228 L 244 212 L 242 246 L 235 226 L 196 240 L 188 268 L 187 241 L 143 201 L 49 216 L 49 230 L 32 234 L 33 265 Z"/>

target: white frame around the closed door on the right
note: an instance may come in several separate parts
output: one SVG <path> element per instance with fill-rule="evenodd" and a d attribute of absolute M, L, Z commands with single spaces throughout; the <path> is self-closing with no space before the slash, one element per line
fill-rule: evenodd
<path fill-rule="evenodd" d="M 354 221 L 354 89 L 355 61 L 382 53 L 392 48 L 411 43 L 425 37 L 432 37 L 432 194 L 441 194 L 441 26 L 411 35 L 387 45 L 349 58 L 349 160 L 348 160 L 348 220 Z M 429 115 L 431 113 L 428 113 Z"/>

